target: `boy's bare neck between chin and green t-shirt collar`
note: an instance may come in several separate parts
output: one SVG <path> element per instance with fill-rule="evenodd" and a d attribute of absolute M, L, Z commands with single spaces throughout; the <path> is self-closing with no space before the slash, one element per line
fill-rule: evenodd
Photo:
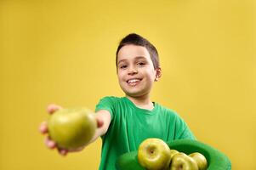
<path fill-rule="evenodd" d="M 154 108 L 153 103 L 151 102 L 149 95 L 139 96 L 139 97 L 132 97 L 126 95 L 128 99 L 130 99 L 134 105 L 138 106 L 142 109 L 152 110 Z"/>

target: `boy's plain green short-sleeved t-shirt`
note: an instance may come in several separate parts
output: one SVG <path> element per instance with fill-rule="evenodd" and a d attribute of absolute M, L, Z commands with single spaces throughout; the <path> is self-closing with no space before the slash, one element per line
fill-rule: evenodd
<path fill-rule="evenodd" d="M 100 170 L 116 169 L 118 156 L 138 150 L 147 138 L 164 141 L 195 139 L 186 123 L 172 110 L 154 103 L 154 109 L 140 109 L 127 97 L 100 99 L 95 111 L 111 113 L 111 124 L 102 139 Z"/>

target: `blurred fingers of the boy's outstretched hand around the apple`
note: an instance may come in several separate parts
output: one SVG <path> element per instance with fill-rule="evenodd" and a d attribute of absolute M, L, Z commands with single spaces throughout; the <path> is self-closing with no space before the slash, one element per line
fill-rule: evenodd
<path fill-rule="evenodd" d="M 60 105 L 54 105 L 54 104 L 48 105 L 48 107 L 47 107 L 48 114 L 50 114 L 50 115 L 54 114 L 55 111 L 58 111 L 60 109 L 62 109 L 62 107 Z M 104 124 L 103 120 L 97 116 L 96 116 L 96 120 L 97 120 L 98 128 L 102 127 Z M 48 147 L 48 149 L 50 149 L 50 150 L 57 149 L 61 156 L 66 156 L 69 152 L 77 152 L 84 148 L 84 147 L 81 147 L 81 148 L 77 148 L 76 150 L 65 150 L 65 149 L 59 148 L 58 145 L 56 144 L 56 142 L 54 142 L 54 140 L 50 139 L 50 137 L 48 136 L 47 122 L 42 122 L 40 124 L 39 131 L 42 134 L 47 134 L 46 138 L 44 139 L 44 143 Z"/>

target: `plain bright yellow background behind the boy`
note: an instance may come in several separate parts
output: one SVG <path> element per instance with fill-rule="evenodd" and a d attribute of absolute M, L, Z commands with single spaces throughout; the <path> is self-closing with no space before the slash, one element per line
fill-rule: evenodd
<path fill-rule="evenodd" d="M 256 169 L 255 9 L 253 0 L 0 1 L 0 169 L 97 169 L 100 139 L 62 157 L 37 127 L 50 103 L 94 110 L 123 95 L 115 52 L 130 32 L 160 54 L 152 99 L 233 169 Z"/>

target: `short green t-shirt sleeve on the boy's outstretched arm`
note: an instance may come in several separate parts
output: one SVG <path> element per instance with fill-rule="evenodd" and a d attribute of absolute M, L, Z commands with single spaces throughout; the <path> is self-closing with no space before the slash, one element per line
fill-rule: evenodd
<path fill-rule="evenodd" d="M 104 97 L 100 99 L 99 103 L 96 105 L 95 112 L 100 110 L 109 111 L 111 114 L 111 120 L 115 113 L 115 98 L 114 97 Z"/>

